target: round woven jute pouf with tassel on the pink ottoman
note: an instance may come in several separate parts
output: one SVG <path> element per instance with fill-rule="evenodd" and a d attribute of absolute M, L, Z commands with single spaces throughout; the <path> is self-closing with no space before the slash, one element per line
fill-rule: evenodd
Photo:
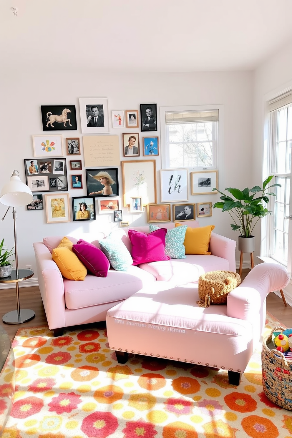
<path fill-rule="evenodd" d="M 209 307 L 210 304 L 225 304 L 227 295 L 241 283 L 239 274 L 230 271 L 206 272 L 199 277 L 200 307 Z"/>

